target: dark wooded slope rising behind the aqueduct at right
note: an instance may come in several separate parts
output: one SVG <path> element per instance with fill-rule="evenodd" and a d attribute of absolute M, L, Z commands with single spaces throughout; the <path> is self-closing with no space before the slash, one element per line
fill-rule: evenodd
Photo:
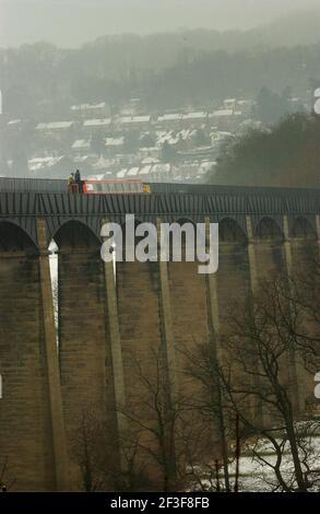
<path fill-rule="evenodd" d="M 236 138 L 210 180 L 245 186 L 320 186 L 320 119 L 292 115 L 268 130 Z"/>

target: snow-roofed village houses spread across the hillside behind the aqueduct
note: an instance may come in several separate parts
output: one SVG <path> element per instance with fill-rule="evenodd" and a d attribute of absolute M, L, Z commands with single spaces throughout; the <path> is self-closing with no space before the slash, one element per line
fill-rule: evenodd
<path fill-rule="evenodd" d="M 162 163 L 175 162 L 180 172 L 183 170 L 181 176 L 189 179 L 203 163 L 216 161 L 221 147 L 250 121 L 252 108 L 252 102 L 227 98 L 213 112 L 149 115 L 139 114 L 135 104 L 117 116 L 110 115 L 105 103 L 73 105 L 69 120 L 12 119 L 8 131 L 13 135 L 12 143 L 19 141 L 14 135 L 33 135 L 25 161 L 37 176 L 62 177 L 74 167 L 114 175 L 130 168 L 131 176 L 138 166 L 143 166 L 145 174 L 145 166 L 152 166 L 149 175 L 155 177 L 158 170 L 165 176 Z"/>

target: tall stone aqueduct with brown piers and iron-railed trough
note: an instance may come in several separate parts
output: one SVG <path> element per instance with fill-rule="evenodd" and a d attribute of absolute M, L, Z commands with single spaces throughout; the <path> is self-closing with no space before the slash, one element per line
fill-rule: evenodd
<path fill-rule="evenodd" d="M 220 222 L 220 269 L 197 262 L 103 262 L 102 223 Z M 59 352 L 48 245 L 58 247 Z M 177 383 L 179 344 L 224 330 L 232 300 L 272 270 L 300 266 L 320 249 L 320 190 L 211 188 L 205 194 L 76 196 L 0 194 L 0 459 L 17 490 L 75 489 L 70 447 L 85 402 L 104 411 L 115 441 L 117 408 L 138 394 L 134 349 L 165 340 Z M 301 393 L 304 395 L 304 392 Z M 115 446 L 117 446 L 115 444 Z M 0 460 L 1 466 L 1 460 Z"/>

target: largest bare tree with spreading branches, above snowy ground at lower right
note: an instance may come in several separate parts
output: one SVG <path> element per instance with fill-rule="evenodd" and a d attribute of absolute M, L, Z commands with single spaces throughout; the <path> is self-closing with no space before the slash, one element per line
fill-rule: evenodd
<path fill-rule="evenodd" d="M 307 452 L 304 428 L 297 422 L 293 404 L 296 390 L 288 370 L 292 349 L 296 359 L 301 355 L 303 362 L 308 362 L 318 338 L 304 328 L 306 312 L 293 295 L 297 284 L 294 289 L 287 284 L 287 278 L 269 281 L 254 297 L 248 297 L 245 306 L 234 309 L 220 376 L 228 408 L 249 433 L 269 441 L 273 447 L 274 463 L 256 451 L 254 455 L 273 469 L 275 489 L 307 491 L 310 447 Z M 262 423 L 254 416 L 257 410 L 250 408 L 257 404 L 262 406 Z M 283 472 L 285 452 L 289 452 L 293 463 L 292 479 Z"/>

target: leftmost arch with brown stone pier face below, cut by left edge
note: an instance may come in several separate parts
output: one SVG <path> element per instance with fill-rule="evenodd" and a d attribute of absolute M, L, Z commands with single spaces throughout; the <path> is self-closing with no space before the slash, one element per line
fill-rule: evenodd
<path fill-rule="evenodd" d="M 56 488 L 45 311 L 38 248 L 11 221 L 0 222 L 0 447 L 14 490 Z"/>

